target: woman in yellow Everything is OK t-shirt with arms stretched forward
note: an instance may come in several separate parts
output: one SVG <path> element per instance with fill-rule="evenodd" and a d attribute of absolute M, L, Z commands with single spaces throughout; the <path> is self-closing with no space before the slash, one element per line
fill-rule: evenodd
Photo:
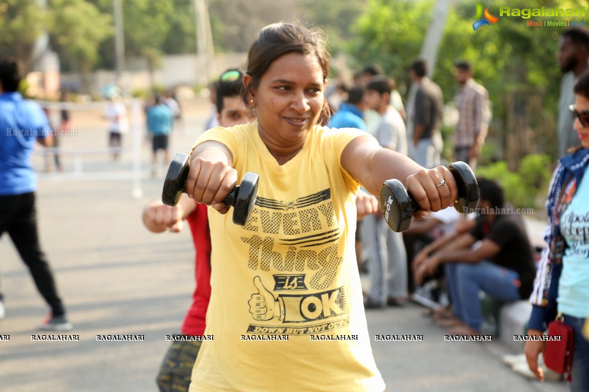
<path fill-rule="evenodd" d="M 187 193 L 212 206 L 212 291 L 211 339 L 190 392 L 385 389 L 356 267 L 356 193 L 399 179 L 425 217 L 456 199 L 456 183 L 445 167 L 426 170 L 357 129 L 322 126 L 328 73 L 319 33 L 266 26 L 243 78 L 257 121 L 211 129 L 193 148 Z M 237 226 L 221 200 L 248 171 L 260 176 L 257 200 Z"/>

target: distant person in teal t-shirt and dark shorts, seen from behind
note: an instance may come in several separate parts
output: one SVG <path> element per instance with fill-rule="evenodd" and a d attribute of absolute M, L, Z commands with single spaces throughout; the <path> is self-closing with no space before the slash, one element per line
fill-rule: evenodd
<path fill-rule="evenodd" d="M 153 140 L 153 158 L 151 159 L 153 176 L 157 172 L 158 150 L 164 150 L 164 162 L 170 161 L 168 136 L 174 124 L 174 112 L 170 106 L 166 105 L 163 98 L 156 97 L 155 100 L 157 103 L 147 110 L 147 130 L 151 133 Z"/>

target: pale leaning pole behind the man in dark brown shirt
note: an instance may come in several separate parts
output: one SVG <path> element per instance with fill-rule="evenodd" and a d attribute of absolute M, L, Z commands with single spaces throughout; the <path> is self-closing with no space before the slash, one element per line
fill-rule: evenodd
<path fill-rule="evenodd" d="M 434 68 L 436 64 L 436 58 L 438 57 L 439 45 L 444 37 L 444 28 L 446 25 L 446 18 L 448 18 L 448 11 L 452 7 L 454 0 L 438 0 L 436 6 L 432 9 L 432 18 L 429 24 L 428 31 L 425 33 L 425 39 L 421 46 L 421 53 L 419 56 L 428 63 L 428 78 L 434 76 Z M 413 120 L 412 113 L 415 108 L 415 95 L 417 93 L 417 85 L 411 84 L 409 89 L 409 96 L 407 97 L 407 104 L 405 105 L 407 116 L 407 136 L 410 142 L 409 145 L 409 156 L 415 157 L 415 148 L 413 147 Z"/>

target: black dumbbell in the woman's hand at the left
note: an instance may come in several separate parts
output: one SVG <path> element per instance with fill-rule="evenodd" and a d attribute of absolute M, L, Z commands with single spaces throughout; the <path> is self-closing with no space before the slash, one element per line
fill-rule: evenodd
<path fill-rule="evenodd" d="M 177 205 L 182 193 L 186 193 L 188 159 L 188 155 L 178 152 L 168 167 L 164 189 L 161 192 L 161 202 L 167 206 Z M 247 172 L 241 180 L 241 185 L 236 185 L 223 200 L 227 206 L 233 206 L 233 223 L 236 225 L 245 225 L 252 213 L 256 203 L 258 179 L 257 174 Z"/>

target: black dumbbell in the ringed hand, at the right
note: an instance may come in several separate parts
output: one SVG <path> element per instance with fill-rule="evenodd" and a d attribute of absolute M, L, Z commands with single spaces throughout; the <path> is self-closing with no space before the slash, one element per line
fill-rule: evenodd
<path fill-rule="evenodd" d="M 458 200 L 454 208 L 461 214 L 468 214 L 478 206 L 479 189 L 477 177 L 464 162 L 454 162 L 448 169 L 454 175 L 458 187 Z M 404 232 L 411 226 L 413 212 L 421 209 L 411 192 L 407 192 L 401 181 L 385 181 L 380 188 L 380 207 L 386 223 L 395 232 Z"/>

